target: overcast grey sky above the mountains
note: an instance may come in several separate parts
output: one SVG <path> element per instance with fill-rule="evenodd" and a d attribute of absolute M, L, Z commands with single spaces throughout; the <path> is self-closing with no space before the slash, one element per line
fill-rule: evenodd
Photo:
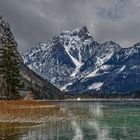
<path fill-rule="evenodd" d="M 1 0 L 0 15 L 10 23 L 21 53 L 83 25 L 99 43 L 140 42 L 140 0 Z"/>

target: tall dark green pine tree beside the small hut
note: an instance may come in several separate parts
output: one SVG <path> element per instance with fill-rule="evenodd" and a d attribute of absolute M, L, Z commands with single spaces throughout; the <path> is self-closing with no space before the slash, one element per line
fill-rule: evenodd
<path fill-rule="evenodd" d="M 3 79 L 4 95 L 7 99 L 19 97 L 20 86 L 19 54 L 15 40 L 7 35 L 1 37 L 0 74 Z"/>

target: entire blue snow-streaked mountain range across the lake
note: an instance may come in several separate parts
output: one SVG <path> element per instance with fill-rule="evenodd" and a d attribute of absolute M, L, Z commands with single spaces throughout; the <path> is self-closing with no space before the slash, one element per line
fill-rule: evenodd
<path fill-rule="evenodd" d="M 22 55 L 31 70 L 69 93 L 128 93 L 140 88 L 140 43 L 96 42 L 87 28 L 63 31 Z"/>

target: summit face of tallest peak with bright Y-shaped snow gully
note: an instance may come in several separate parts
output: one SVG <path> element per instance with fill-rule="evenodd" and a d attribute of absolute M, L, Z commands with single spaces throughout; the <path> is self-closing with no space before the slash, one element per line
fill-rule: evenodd
<path fill-rule="evenodd" d="M 95 53 L 99 44 L 93 40 L 85 26 L 72 32 L 64 31 L 59 37 L 64 42 L 65 51 L 75 64 L 76 68 L 70 75 L 75 77 L 84 62 Z"/>

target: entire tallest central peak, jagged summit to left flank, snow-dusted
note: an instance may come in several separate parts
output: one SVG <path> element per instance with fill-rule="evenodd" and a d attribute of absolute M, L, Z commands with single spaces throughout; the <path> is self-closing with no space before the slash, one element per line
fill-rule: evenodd
<path fill-rule="evenodd" d="M 81 66 L 97 52 L 98 46 L 84 26 L 72 32 L 63 31 L 48 43 L 37 44 L 22 57 L 30 69 L 63 88 L 78 80 Z"/>

